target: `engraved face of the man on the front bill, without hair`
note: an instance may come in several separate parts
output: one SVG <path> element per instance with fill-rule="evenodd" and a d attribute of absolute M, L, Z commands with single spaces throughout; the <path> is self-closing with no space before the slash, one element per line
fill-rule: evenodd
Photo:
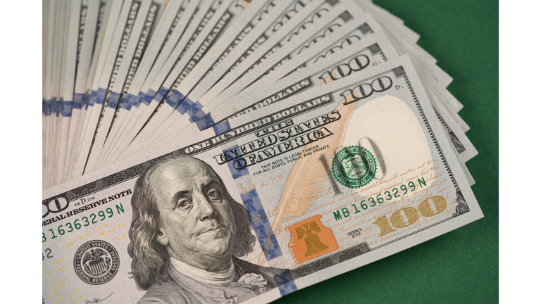
<path fill-rule="evenodd" d="M 192 265 L 231 255 L 236 227 L 216 172 L 200 160 L 181 158 L 156 168 L 150 182 L 160 211 L 158 241 L 173 258 Z"/>

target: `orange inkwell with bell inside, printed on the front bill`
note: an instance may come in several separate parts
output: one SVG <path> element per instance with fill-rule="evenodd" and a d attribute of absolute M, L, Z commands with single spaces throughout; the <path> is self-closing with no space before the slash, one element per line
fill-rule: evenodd
<path fill-rule="evenodd" d="M 321 224 L 321 215 L 314 215 L 285 227 L 290 232 L 290 251 L 297 264 L 338 249 L 332 229 Z"/>

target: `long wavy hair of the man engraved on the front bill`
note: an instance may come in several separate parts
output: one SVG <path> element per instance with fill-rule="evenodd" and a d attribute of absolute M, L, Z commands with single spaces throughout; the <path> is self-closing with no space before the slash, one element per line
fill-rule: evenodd
<path fill-rule="evenodd" d="M 132 257 L 132 274 L 138 289 L 147 290 L 154 283 L 169 279 L 167 270 L 169 265 L 169 254 L 166 247 L 156 241 L 160 227 L 160 212 L 156 205 L 156 195 L 152 189 L 150 177 L 156 168 L 172 160 L 199 160 L 192 156 L 170 156 L 158 160 L 154 165 L 147 167 L 142 175 L 135 182 L 132 195 L 132 224 L 130 226 L 130 245 L 128 254 Z M 232 255 L 242 257 L 251 252 L 256 243 L 256 237 L 251 234 L 253 229 L 250 224 L 249 214 L 244 205 L 237 203 L 229 194 L 222 179 L 212 167 L 199 160 L 201 165 L 206 165 L 218 177 L 220 185 L 223 186 L 224 198 L 230 203 L 237 231 L 235 243 L 232 244 Z"/>

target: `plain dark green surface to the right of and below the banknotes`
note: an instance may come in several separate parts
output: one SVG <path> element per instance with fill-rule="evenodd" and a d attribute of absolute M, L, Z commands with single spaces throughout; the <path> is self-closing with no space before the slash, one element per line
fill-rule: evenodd
<path fill-rule="evenodd" d="M 421 35 L 418 45 L 453 77 L 466 163 L 485 217 L 413 248 L 287 295 L 275 303 L 497 303 L 498 2 L 374 0 Z"/>

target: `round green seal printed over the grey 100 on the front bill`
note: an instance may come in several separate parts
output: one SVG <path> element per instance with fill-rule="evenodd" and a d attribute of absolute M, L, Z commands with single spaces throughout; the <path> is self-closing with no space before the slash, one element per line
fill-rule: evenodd
<path fill-rule="evenodd" d="M 368 184 L 375 175 L 375 158 L 368 149 L 359 146 L 342 148 L 332 159 L 332 175 L 351 189 Z"/>

